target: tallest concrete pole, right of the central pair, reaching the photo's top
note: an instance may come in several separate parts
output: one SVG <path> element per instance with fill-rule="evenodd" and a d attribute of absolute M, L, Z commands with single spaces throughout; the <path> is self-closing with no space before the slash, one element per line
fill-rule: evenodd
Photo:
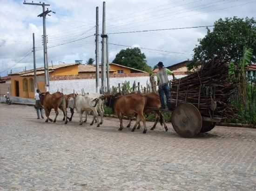
<path fill-rule="evenodd" d="M 105 12 L 106 2 L 103 1 L 103 14 L 102 14 L 102 34 L 101 34 L 101 90 L 102 93 L 105 92 L 106 89 L 106 12 Z"/>

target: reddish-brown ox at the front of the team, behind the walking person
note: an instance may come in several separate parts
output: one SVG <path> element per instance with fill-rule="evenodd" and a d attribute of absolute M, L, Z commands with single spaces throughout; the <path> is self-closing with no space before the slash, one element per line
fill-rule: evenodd
<path fill-rule="evenodd" d="M 53 121 L 51 118 L 49 118 L 52 108 L 55 111 L 54 122 L 56 122 L 57 116 L 59 115 L 58 108 L 60 108 L 65 117 L 65 124 L 67 124 L 67 108 L 64 94 L 61 92 L 56 92 L 54 94 L 50 94 L 49 92 L 41 93 L 40 102 L 45 109 L 45 115 L 47 117 L 45 122 Z"/>

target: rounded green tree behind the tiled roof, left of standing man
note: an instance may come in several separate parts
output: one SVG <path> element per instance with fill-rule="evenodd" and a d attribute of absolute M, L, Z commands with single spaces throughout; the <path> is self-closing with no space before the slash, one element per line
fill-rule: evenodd
<path fill-rule="evenodd" d="M 121 64 L 138 70 L 152 72 L 152 68 L 148 66 L 145 60 L 146 56 L 141 53 L 141 49 L 138 47 L 127 48 L 121 50 L 112 61 L 115 64 Z"/>

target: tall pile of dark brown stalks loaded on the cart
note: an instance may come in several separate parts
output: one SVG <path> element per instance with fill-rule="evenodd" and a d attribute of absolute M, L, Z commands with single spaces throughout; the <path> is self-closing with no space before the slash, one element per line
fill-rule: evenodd
<path fill-rule="evenodd" d="M 234 118 L 236 108 L 229 103 L 235 85 L 229 83 L 228 64 L 218 60 L 204 64 L 200 70 L 172 81 L 172 108 L 192 103 L 203 116 Z M 212 109 L 215 104 L 216 108 Z"/>

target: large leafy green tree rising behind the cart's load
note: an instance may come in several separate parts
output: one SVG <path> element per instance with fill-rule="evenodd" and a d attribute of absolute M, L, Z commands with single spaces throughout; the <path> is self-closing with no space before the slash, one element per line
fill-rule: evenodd
<path fill-rule="evenodd" d="M 243 47 L 253 49 L 252 62 L 256 61 L 256 20 L 254 18 L 240 19 L 237 17 L 219 19 L 215 22 L 212 31 L 208 29 L 204 38 L 194 49 L 193 63 L 188 65 L 189 70 L 200 63 L 207 62 L 215 57 L 237 63 L 243 58 Z"/>

